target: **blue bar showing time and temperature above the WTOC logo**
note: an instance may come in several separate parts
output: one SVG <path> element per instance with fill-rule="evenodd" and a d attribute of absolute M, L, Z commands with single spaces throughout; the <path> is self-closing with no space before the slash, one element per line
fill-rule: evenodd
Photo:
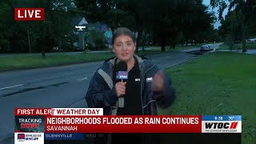
<path fill-rule="evenodd" d="M 242 115 L 202 115 L 202 121 L 242 121 Z"/>

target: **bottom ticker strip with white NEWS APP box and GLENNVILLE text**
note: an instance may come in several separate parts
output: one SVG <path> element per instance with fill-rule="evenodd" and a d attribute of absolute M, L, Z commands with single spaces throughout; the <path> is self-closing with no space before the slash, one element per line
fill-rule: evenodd
<path fill-rule="evenodd" d="M 47 141 L 66 141 L 75 140 L 74 142 L 82 141 L 83 143 L 91 142 L 94 138 L 103 138 L 106 134 L 81 134 L 81 133 L 15 133 L 15 144 L 42 144 Z M 143 134 L 144 135 L 144 134 Z M 154 134 L 153 134 L 154 135 Z M 159 134 L 157 134 L 159 135 Z M 241 144 L 241 134 L 161 134 L 170 138 L 171 143 L 233 143 Z M 127 137 L 130 134 L 126 134 Z M 185 139 L 184 139 L 185 138 Z M 225 141 L 220 141 L 225 139 Z M 79 142 L 79 143 L 82 143 Z M 58 142 L 61 143 L 61 142 Z M 66 142 L 65 142 L 66 143 Z"/>

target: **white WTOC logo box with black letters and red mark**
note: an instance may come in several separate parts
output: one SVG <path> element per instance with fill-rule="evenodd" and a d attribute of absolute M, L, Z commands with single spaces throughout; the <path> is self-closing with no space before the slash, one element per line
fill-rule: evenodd
<path fill-rule="evenodd" d="M 205 121 L 202 122 L 202 133 L 241 133 L 241 121 Z"/>

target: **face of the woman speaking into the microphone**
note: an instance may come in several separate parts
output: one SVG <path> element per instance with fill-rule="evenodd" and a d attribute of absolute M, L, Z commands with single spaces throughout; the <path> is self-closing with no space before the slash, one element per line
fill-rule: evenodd
<path fill-rule="evenodd" d="M 113 51 L 120 61 L 130 61 L 135 49 L 136 43 L 127 35 L 120 35 L 114 40 Z"/>

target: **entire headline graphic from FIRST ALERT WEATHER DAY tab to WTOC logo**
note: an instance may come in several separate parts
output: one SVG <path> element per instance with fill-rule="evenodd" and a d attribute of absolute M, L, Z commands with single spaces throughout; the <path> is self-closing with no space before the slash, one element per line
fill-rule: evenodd
<path fill-rule="evenodd" d="M 242 133 L 241 115 L 102 115 L 102 108 L 15 109 L 15 132 Z"/>

